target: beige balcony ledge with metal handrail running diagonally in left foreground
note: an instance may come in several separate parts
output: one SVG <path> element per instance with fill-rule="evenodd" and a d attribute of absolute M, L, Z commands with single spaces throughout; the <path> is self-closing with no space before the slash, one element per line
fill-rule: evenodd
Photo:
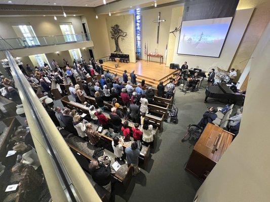
<path fill-rule="evenodd" d="M 14 58 L 5 54 L 53 201 L 101 201 Z"/>

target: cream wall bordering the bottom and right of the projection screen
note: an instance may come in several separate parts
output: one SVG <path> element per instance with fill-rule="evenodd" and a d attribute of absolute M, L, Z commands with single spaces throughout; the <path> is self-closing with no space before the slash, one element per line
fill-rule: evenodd
<path fill-rule="evenodd" d="M 203 57 L 203 56 L 187 56 L 178 55 L 178 41 L 179 33 L 177 35 L 173 63 L 178 63 L 180 66 L 187 61 L 189 68 L 199 67 L 203 70 L 217 69 L 219 67 L 223 70 L 228 70 L 232 62 L 237 48 L 241 42 L 242 36 L 246 30 L 250 17 L 253 13 L 252 9 L 237 10 L 233 22 L 230 26 L 226 41 L 223 45 L 222 52 L 219 58 Z"/>

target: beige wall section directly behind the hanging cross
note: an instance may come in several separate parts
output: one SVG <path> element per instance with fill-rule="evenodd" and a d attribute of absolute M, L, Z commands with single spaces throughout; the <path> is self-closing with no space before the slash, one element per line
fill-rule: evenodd
<path fill-rule="evenodd" d="M 142 24 L 141 58 L 143 60 L 146 60 L 144 56 L 145 42 L 148 43 L 148 53 L 153 53 L 155 52 L 155 49 L 157 49 L 158 53 L 163 54 L 163 56 L 165 56 L 166 44 L 168 43 L 169 40 L 172 9 L 177 6 L 179 7 L 179 5 L 172 5 L 141 11 L 141 24 Z M 159 12 L 161 12 L 161 20 L 166 21 L 160 23 L 159 43 L 157 43 L 158 24 L 153 23 L 152 21 L 158 20 Z M 159 59 L 152 57 L 151 61 L 159 62 Z M 163 62 L 166 63 L 165 58 Z"/>

